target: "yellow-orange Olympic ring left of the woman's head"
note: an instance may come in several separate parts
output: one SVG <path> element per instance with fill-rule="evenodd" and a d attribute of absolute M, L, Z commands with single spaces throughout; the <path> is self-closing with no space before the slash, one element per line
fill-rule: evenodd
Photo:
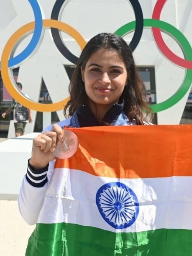
<path fill-rule="evenodd" d="M 58 28 L 61 31 L 66 32 L 70 36 L 72 36 L 77 43 L 79 44 L 80 48 L 83 49 L 86 45 L 86 41 L 84 38 L 71 26 L 66 23 L 63 23 L 59 20 L 43 20 L 43 27 L 51 27 L 51 28 Z M 10 52 L 15 46 L 15 42 L 18 41 L 23 35 L 28 33 L 29 31 L 33 31 L 35 28 L 35 22 L 30 22 L 23 27 L 19 28 L 8 40 L 5 48 L 3 49 L 3 53 L 1 56 L 1 75 L 3 82 L 5 84 L 6 89 L 8 90 L 9 94 L 18 101 L 21 105 L 25 106 L 26 108 L 36 110 L 39 112 L 53 112 L 57 110 L 61 110 L 67 104 L 69 97 L 61 100 L 56 103 L 51 104 L 43 104 L 34 102 L 30 99 L 27 99 L 24 95 L 22 95 L 15 87 L 13 82 L 11 81 L 9 68 L 8 68 L 8 59 L 10 57 Z"/>

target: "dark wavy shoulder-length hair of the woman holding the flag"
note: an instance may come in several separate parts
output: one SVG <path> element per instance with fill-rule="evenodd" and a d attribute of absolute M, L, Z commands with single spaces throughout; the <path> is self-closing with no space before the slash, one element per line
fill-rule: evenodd
<path fill-rule="evenodd" d="M 111 33 L 100 33 L 94 36 L 84 47 L 69 83 L 70 100 L 64 107 L 64 116 L 72 116 L 77 107 L 88 105 L 88 96 L 82 81 L 81 67 L 84 69 L 90 56 L 100 49 L 115 50 L 125 63 L 128 81 L 118 103 L 124 102 L 124 112 L 129 120 L 133 121 L 135 119 L 138 125 L 143 125 L 144 121 L 151 121 L 154 114 L 148 106 L 145 85 L 138 75 L 131 49 L 123 38 Z M 69 111 L 68 114 L 67 110 Z"/>

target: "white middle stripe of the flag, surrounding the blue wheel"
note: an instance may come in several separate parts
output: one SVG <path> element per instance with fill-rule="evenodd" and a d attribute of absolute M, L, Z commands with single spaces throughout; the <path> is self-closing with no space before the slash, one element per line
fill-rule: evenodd
<path fill-rule="evenodd" d="M 139 202 L 136 222 L 116 230 L 96 205 L 98 189 L 108 182 L 131 188 Z M 38 223 L 76 223 L 113 232 L 141 232 L 159 228 L 192 229 L 192 177 L 114 179 L 86 172 L 55 169 Z"/>

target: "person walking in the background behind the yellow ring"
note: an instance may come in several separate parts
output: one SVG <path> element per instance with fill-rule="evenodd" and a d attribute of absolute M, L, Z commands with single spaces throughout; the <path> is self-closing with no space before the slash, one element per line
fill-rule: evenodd
<path fill-rule="evenodd" d="M 21 83 L 16 82 L 18 89 L 22 91 L 23 86 Z M 28 95 L 25 94 L 26 97 Z M 28 97 L 29 98 L 29 97 Z M 14 99 L 10 107 L 2 114 L 2 117 L 5 118 L 7 114 L 10 114 L 13 111 L 13 122 L 15 127 L 15 137 L 22 136 L 25 134 L 26 124 L 32 123 L 32 110 L 24 107 L 19 102 L 16 102 Z"/>

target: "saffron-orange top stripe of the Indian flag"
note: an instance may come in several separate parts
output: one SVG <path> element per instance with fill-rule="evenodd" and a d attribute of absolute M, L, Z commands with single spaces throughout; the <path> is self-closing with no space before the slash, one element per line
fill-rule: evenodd
<path fill-rule="evenodd" d="M 77 135 L 79 148 L 72 158 L 57 159 L 55 168 L 128 179 L 192 175 L 192 125 L 67 129 Z"/>

